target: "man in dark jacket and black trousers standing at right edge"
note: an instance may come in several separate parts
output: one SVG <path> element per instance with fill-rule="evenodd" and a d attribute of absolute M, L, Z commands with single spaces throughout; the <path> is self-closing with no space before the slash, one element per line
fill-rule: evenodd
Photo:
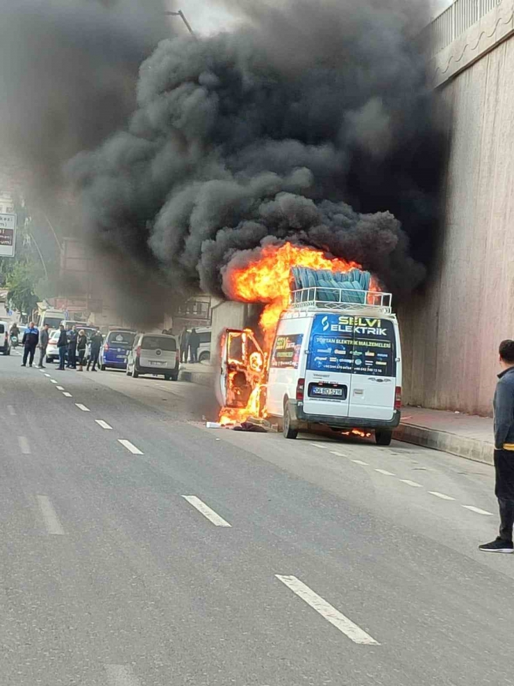
<path fill-rule="evenodd" d="M 495 399 L 495 496 L 499 504 L 499 536 L 479 546 L 484 553 L 512 553 L 514 524 L 514 341 L 499 344 Z"/>

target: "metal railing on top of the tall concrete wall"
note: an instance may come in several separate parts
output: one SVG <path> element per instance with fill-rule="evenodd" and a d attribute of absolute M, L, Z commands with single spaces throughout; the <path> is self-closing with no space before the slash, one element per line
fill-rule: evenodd
<path fill-rule="evenodd" d="M 440 52 L 503 1 L 455 0 L 425 29 L 429 34 L 431 52 Z"/>

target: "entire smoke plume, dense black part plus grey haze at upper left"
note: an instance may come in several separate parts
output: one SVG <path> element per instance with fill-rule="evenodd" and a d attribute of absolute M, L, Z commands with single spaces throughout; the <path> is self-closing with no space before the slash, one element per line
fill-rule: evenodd
<path fill-rule="evenodd" d="M 1 1 L 3 133 L 46 170 L 83 151 L 67 174 L 123 288 L 225 295 L 231 265 L 285 239 L 397 293 L 423 279 L 445 163 L 423 0 L 229 1 L 238 28 L 161 41 L 134 107 L 162 23 L 138 0 Z"/>

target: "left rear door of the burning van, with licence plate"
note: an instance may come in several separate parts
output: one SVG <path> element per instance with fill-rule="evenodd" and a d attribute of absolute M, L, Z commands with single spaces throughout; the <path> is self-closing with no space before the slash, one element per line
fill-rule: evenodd
<path fill-rule="evenodd" d="M 347 320 L 331 313 L 313 318 L 304 384 L 306 414 L 348 416 L 354 327 Z"/>

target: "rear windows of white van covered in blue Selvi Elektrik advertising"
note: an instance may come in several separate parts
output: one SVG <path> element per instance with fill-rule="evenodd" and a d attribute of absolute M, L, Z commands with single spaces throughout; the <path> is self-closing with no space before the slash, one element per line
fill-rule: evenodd
<path fill-rule="evenodd" d="M 395 329 L 375 317 L 316 315 L 310 332 L 307 367 L 392 377 L 396 374 Z"/>

